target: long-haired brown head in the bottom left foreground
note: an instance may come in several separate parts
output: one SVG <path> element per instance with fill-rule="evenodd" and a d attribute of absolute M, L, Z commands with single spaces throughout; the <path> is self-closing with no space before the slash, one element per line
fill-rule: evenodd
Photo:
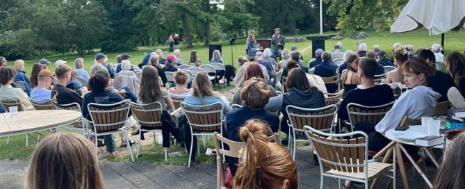
<path fill-rule="evenodd" d="M 104 188 L 90 140 L 76 133 L 51 133 L 35 147 L 25 188 Z"/>

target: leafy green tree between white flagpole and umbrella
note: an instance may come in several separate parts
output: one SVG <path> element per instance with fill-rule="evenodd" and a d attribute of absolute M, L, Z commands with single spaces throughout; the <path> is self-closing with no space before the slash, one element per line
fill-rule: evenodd
<path fill-rule="evenodd" d="M 354 33 L 359 29 L 377 28 L 378 30 L 390 27 L 393 20 L 400 13 L 400 6 L 408 0 L 325 0 L 329 3 L 328 13 L 337 17 L 336 28 L 339 33 Z M 372 11 L 367 11 L 372 10 Z"/>

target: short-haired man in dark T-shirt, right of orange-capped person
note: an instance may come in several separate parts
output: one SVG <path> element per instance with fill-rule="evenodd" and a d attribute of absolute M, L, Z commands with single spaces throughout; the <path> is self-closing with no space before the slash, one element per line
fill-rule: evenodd
<path fill-rule="evenodd" d="M 57 104 L 71 104 L 76 102 L 82 104 L 82 97 L 74 90 L 66 88 L 67 83 L 71 80 L 71 67 L 68 65 L 59 65 L 55 68 L 56 79 L 58 79 L 52 91 L 51 99 Z M 87 107 L 82 107 L 87 108 Z"/>

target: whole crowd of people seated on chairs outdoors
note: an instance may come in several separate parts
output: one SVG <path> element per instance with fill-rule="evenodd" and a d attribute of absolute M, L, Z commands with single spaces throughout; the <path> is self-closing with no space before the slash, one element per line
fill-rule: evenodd
<path fill-rule="evenodd" d="M 175 37 L 173 35 L 173 40 Z M 247 38 L 247 48 L 253 49 L 255 44 L 252 34 Z M 173 45 L 176 45 L 176 40 L 173 41 Z M 339 42 L 332 52 L 323 49 L 314 51 L 316 58 L 309 60 L 307 64 L 304 63 L 302 54 L 295 46 L 291 49 L 284 48 L 284 35 L 280 33 L 279 28 L 272 36 L 272 45 L 272 49 L 251 50 L 248 51 L 247 57 L 238 57 L 237 72 L 232 71 L 231 74 L 228 70 L 216 70 L 215 74 L 225 76 L 228 82 L 232 81 L 231 75 L 235 75 L 235 90 L 233 90 L 234 96 L 231 101 L 213 90 L 215 83 L 212 83 L 209 73 L 198 72 L 192 78 L 186 70 L 181 69 L 181 65 L 200 67 L 202 60 L 197 58 L 197 51 L 191 51 L 189 63 L 184 63 L 179 49 L 174 49 L 173 53 L 166 57 L 159 49 L 150 51 L 139 65 L 131 63 L 129 54 L 117 56 L 117 63 L 112 65 L 107 63 L 106 55 L 98 53 L 95 54 L 90 74 L 83 69 L 85 63 L 82 58 L 74 60 L 74 68 L 63 60 L 57 60 L 53 72 L 47 67 L 50 62 L 42 59 L 33 65 L 30 78 L 24 71 L 26 66 L 24 60 L 16 60 L 12 68 L 8 67 L 5 58 L 0 57 L 0 98 L 18 97 L 26 110 L 33 109 L 31 100 L 51 100 L 56 104 L 77 103 L 83 107 L 82 115 L 88 120 L 91 120 L 91 117 L 87 105 L 92 102 L 113 104 L 129 99 L 141 104 L 150 104 L 158 101 L 163 108 L 163 147 L 170 147 L 170 135 L 174 136 L 176 140 L 186 145 L 188 151 L 191 146 L 193 147 L 193 156 L 189 157 L 190 161 L 195 161 L 197 139 L 195 138 L 194 143 L 190 144 L 191 130 L 188 126 L 177 126 L 176 122 L 170 122 L 172 120 L 170 112 L 174 110 L 172 98 L 185 99 L 186 104 L 194 106 L 207 106 L 220 102 L 223 106 L 222 113 L 226 117 L 222 134 L 229 140 L 247 143 L 247 153 L 244 154 L 246 158 L 227 158 L 231 171 L 228 184 L 229 187 L 234 186 L 234 188 L 298 187 L 297 168 L 291 156 L 282 146 L 268 141 L 267 135 L 278 132 L 279 125 L 281 125 L 281 131 L 286 133 L 284 140 L 288 140 L 291 130 L 287 127 L 289 120 L 286 107 L 289 105 L 302 108 L 326 106 L 325 95 L 338 92 L 339 84 L 325 85 L 323 78 L 341 75 L 340 84 L 344 94 L 343 100 L 338 105 L 341 108 L 338 108 L 337 112 L 341 123 L 348 121 L 348 112 L 345 108 L 347 104 L 380 106 L 394 101 L 391 110 L 379 123 L 357 124 L 353 128 L 353 131 L 367 133 L 368 149 L 373 151 L 379 151 L 390 142 L 384 137 L 384 133 L 398 126 L 404 116 L 413 120 L 425 116 L 431 117 L 437 103 L 441 101 L 450 101 L 456 108 L 465 108 L 465 57 L 458 52 L 452 52 L 443 57 L 442 54 L 439 55 L 441 47 L 437 44 L 433 44 L 431 49 L 414 51 L 413 45 L 395 43 L 391 49 L 390 60 L 387 51 L 379 45 L 373 45 L 372 49 L 368 50 L 366 43 L 358 42 L 357 49 L 345 51 L 342 43 Z M 223 63 L 220 51 L 213 51 L 212 57 L 209 63 Z M 336 65 L 333 62 L 336 58 L 342 58 L 343 61 Z M 447 73 L 436 69 L 437 62 L 442 61 Z M 384 73 L 384 66 L 394 68 Z M 136 74 L 139 72 L 140 76 Z M 174 83 L 168 82 L 165 72 L 174 72 Z M 276 77 L 277 72 L 282 72 L 282 79 L 279 81 Z M 384 81 L 381 83 L 375 81 L 376 76 L 383 74 Z M 81 85 L 76 81 L 77 79 L 84 81 L 86 85 Z M 13 88 L 15 81 L 21 81 L 26 88 L 24 90 Z M 408 90 L 397 94 L 396 85 L 393 83 L 407 85 Z M 240 107 L 233 109 L 232 104 L 238 104 Z M 0 111 L 5 110 L 0 106 Z M 281 121 L 279 115 L 284 115 Z M 133 134 L 137 135 L 139 125 L 131 114 L 127 122 L 132 127 Z M 342 124 L 342 126 L 345 127 L 342 130 L 352 131 L 349 125 Z M 120 135 L 120 138 L 122 139 L 120 146 L 124 147 L 126 145 L 124 136 Z M 465 138 L 465 135 L 459 135 L 459 138 Z M 113 135 L 105 135 L 104 139 L 108 154 L 117 156 Z M 54 142 L 61 140 L 66 140 L 66 142 L 79 140 L 82 145 L 73 144 L 69 147 L 85 148 L 88 152 L 80 152 L 92 155 L 87 155 L 86 161 L 96 162 L 92 146 L 89 142 L 82 141 L 85 139 L 67 133 L 49 135 L 35 149 L 27 176 L 28 186 L 51 184 L 51 181 L 47 179 L 44 179 L 45 183 L 40 183 L 42 181 L 35 179 L 38 178 L 37 175 L 43 175 L 42 171 L 45 170 L 33 166 L 47 161 L 43 159 L 44 153 L 66 153 L 66 151 L 51 151 L 50 149 Z M 463 140 L 457 139 L 456 141 Z M 450 147 L 457 147 L 457 145 Z M 67 150 L 74 151 L 75 149 Z M 446 154 L 449 154 L 447 158 L 451 159 L 457 156 L 450 150 L 446 151 Z M 276 161 L 270 161 L 271 159 Z M 56 165 L 66 166 L 66 162 L 58 161 Z M 92 174 L 94 178 L 86 181 L 88 182 L 86 184 L 96 186 L 98 184 L 103 187 L 98 166 L 92 163 L 88 165 L 93 167 L 73 173 L 73 175 L 60 174 L 59 177 L 83 178 L 84 174 Z M 269 168 L 256 168 L 263 166 Z M 447 172 L 448 170 L 441 167 L 440 171 Z M 437 176 L 437 183 L 441 183 L 444 187 L 459 186 L 450 185 L 450 183 L 445 183 L 446 181 L 441 182 L 441 179 L 448 179 L 446 177 Z M 67 187 L 65 184 L 68 183 L 56 184 Z M 346 183 L 346 185 L 350 186 L 351 183 Z"/>

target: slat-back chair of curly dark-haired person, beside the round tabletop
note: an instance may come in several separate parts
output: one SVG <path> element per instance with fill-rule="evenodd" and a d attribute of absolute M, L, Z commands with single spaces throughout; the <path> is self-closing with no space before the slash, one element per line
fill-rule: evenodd
<path fill-rule="evenodd" d="M 131 161 L 134 162 L 131 145 L 129 144 L 128 125 L 126 121 L 129 117 L 129 110 L 131 109 L 130 104 L 131 101 L 129 100 L 120 101 L 115 104 L 90 103 L 87 108 L 92 118 L 95 138 L 99 135 L 124 133 L 128 153 L 131 155 Z M 95 140 L 95 154 L 97 154 L 97 140 Z"/>

